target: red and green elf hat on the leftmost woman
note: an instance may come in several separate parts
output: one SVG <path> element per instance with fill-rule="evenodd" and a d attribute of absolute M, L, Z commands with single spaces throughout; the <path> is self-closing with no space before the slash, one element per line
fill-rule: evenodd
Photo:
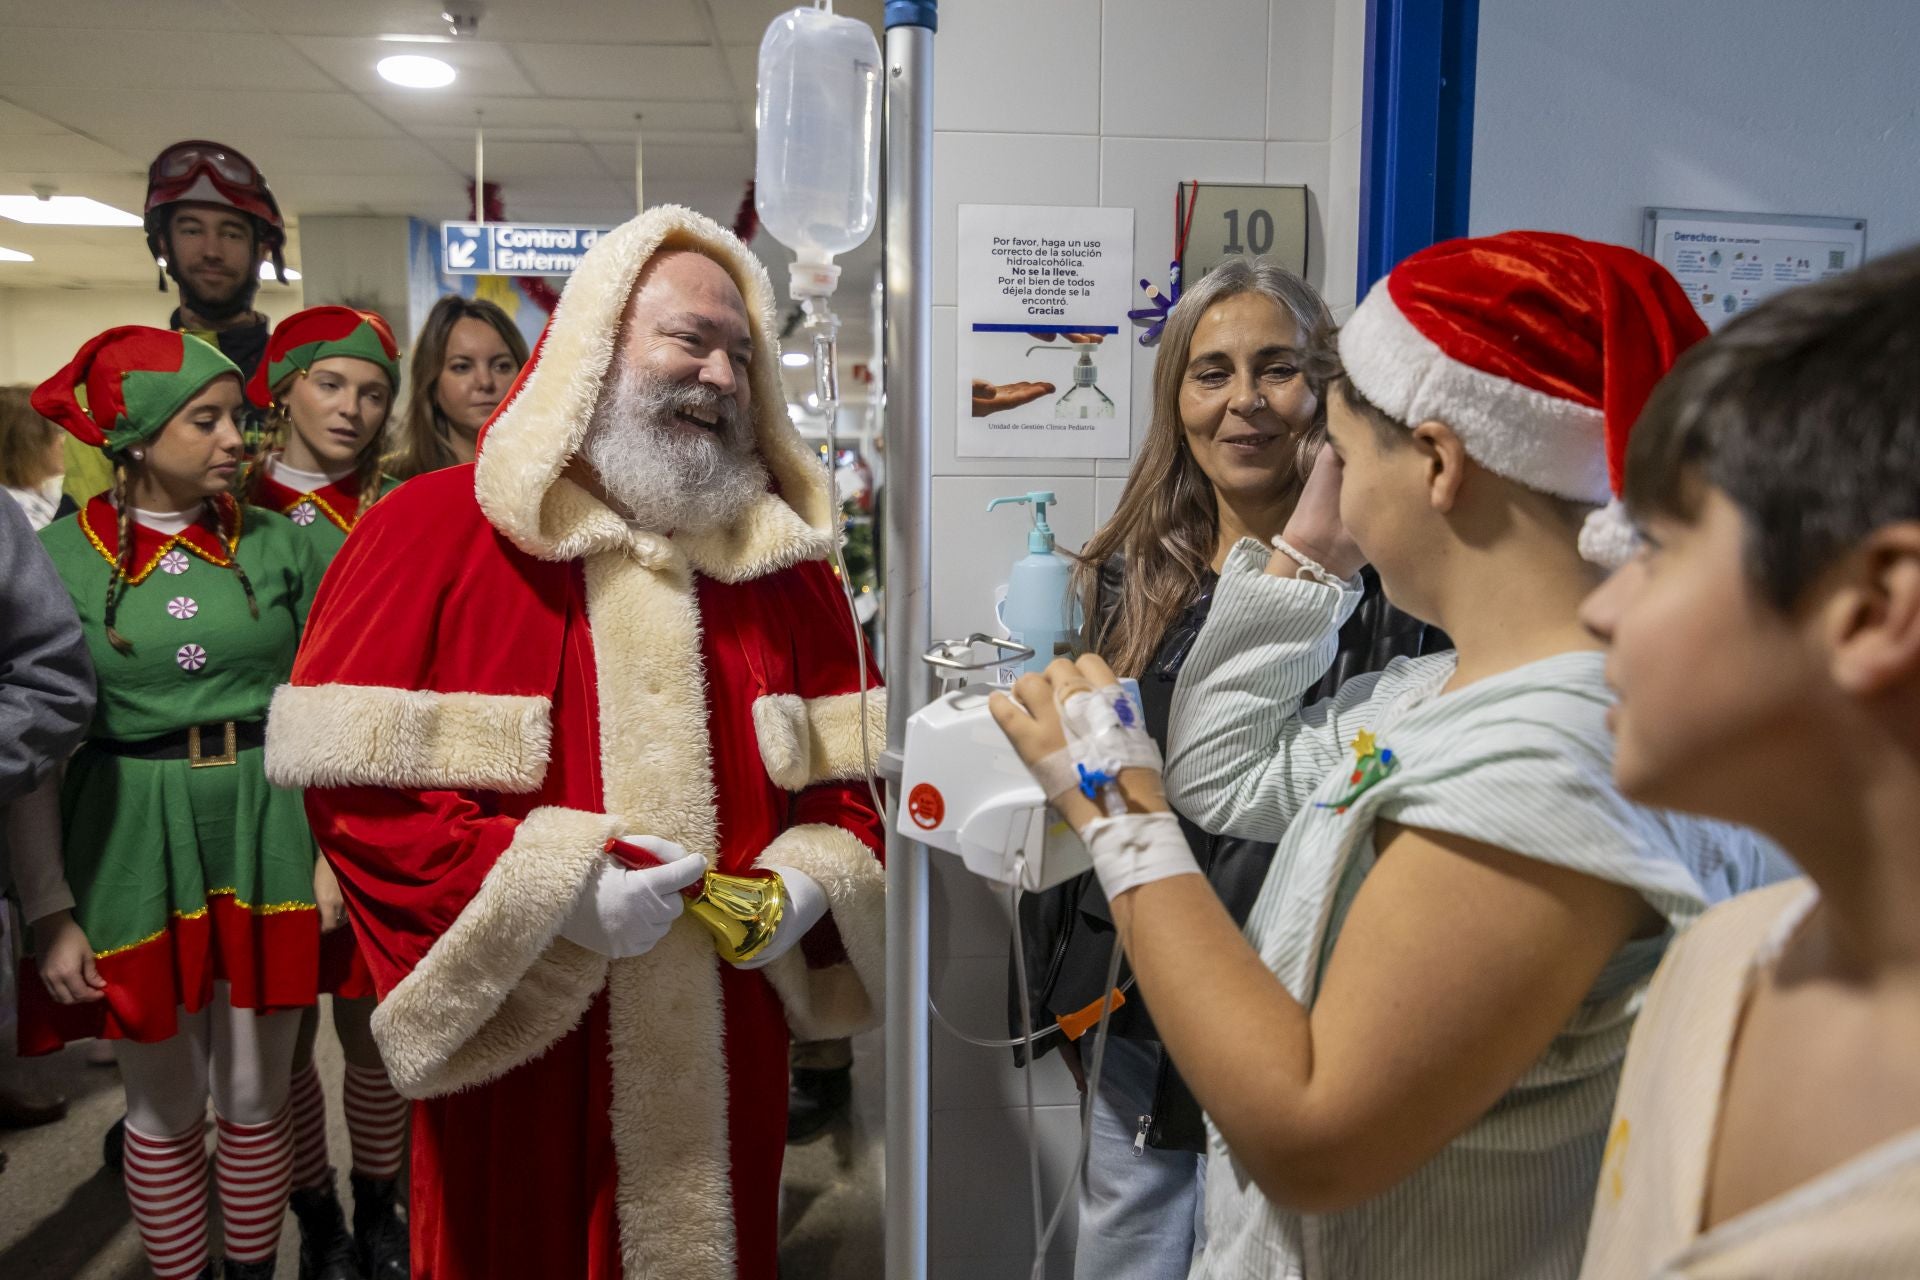
<path fill-rule="evenodd" d="M 65 368 L 35 388 L 33 411 L 88 445 L 119 453 L 159 436 L 221 374 L 238 378 L 240 368 L 200 338 L 123 324 L 90 338 Z"/>

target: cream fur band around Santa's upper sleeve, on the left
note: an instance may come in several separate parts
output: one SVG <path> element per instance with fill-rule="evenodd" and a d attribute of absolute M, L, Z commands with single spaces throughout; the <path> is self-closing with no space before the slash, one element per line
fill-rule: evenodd
<path fill-rule="evenodd" d="M 551 714 L 536 697 L 280 685 L 267 712 L 267 777 L 526 794 L 547 775 Z"/>

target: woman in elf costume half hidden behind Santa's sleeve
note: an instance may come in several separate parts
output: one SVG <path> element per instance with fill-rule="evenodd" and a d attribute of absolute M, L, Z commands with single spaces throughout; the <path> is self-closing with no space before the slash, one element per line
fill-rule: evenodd
<path fill-rule="evenodd" d="M 286 514 L 328 562 L 374 501 L 399 482 L 380 474 L 386 418 L 399 391 L 399 349 L 386 320 L 353 307 L 307 307 L 280 320 L 248 384 L 269 413 L 278 447 L 250 486 L 252 501 Z M 326 1151 L 326 1094 L 313 1067 L 319 1006 L 301 1019 L 294 1052 L 294 1217 L 301 1280 L 401 1280 L 407 1228 L 394 1207 L 407 1146 L 407 1100 L 394 1090 L 372 1042 L 374 992 L 353 944 L 340 885 L 321 858 L 321 990 L 334 998 L 346 1055 L 346 1117 L 353 1144 L 353 1236 Z"/>

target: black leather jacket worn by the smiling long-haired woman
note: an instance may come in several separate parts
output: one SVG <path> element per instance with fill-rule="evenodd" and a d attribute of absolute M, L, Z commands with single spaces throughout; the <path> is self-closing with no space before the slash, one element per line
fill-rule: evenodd
<path fill-rule="evenodd" d="M 1116 558 L 1100 570 L 1100 612 L 1106 614 L 1119 599 L 1125 568 Z M 1173 706 L 1173 683 L 1192 651 L 1200 626 L 1213 604 L 1215 578 L 1208 576 L 1200 597 L 1187 606 L 1165 635 L 1152 664 L 1140 674 L 1140 704 L 1146 729 L 1165 748 L 1167 716 Z M 1396 656 L 1417 656 L 1448 649 L 1438 629 L 1411 618 L 1380 593 L 1373 570 L 1365 570 L 1367 593 L 1359 608 L 1340 628 L 1340 651 L 1321 683 L 1308 693 L 1308 702 L 1331 697 L 1342 683 L 1365 672 L 1377 672 Z M 1273 844 L 1231 835 L 1212 835 L 1181 818 L 1181 829 L 1194 850 L 1200 869 L 1219 894 L 1236 925 L 1244 925 L 1260 896 L 1273 862 Z M 1092 873 L 1079 875 L 1046 892 L 1020 900 L 1020 938 L 1025 944 L 1027 983 L 1031 984 L 1033 1025 L 1048 1027 L 1062 1013 L 1075 1013 L 1100 998 L 1112 948 L 1117 946 L 1114 915 L 1106 894 Z M 1121 984 L 1129 969 L 1121 963 Z M 1008 965 L 1008 1025 L 1020 1034 L 1020 988 Z M 1114 1009 L 1112 1034 L 1129 1040 L 1156 1042 L 1154 1019 L 1139 988 L 1127 990 L 1127 1004 Z M 1058 1036 L 1041 1042 L 1039 1054 L 1058 1044 Z M 1083 1044 L 1091 1044 L 1083 1040 Z M 1021 1050 L 1014 1059 L 1023 1061 Z M 1167 1054 L 1160 1054 L 1160 1082 L 1154 1088 L 1154 1111 L 1146 1121 L 1146 1140 L 1156 1148 L 1175 1151 L 1206 1150 L 1206 1125 L 1200 1103 L 1187 1090 Z"/>

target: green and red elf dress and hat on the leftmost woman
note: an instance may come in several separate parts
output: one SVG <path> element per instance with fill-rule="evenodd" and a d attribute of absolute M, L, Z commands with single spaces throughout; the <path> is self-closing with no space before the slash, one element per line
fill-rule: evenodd
<path fill-rule="evenodd" d="M 86 344 L 33 403 L 121 459 L 228 374 L 234 365 L 198 338 L 129 326 Z M 317 852 L 301 793 L 271 785 L 261 762 L 267 704 L 292 672 L 324 558 L 284 516 L 227 495 L 177 532 L 123 524 L 100 495 L 40 539 L 100 685 L 67 766 L 61 827 L 73 915 L 106 1000 L 58 1006 L 23 975 L 21 1052 L 83 1036 L 165 1040 L 180 1009 L 209 1004 L 215 981 L 236 1007 L 313 1004 Z"/>

